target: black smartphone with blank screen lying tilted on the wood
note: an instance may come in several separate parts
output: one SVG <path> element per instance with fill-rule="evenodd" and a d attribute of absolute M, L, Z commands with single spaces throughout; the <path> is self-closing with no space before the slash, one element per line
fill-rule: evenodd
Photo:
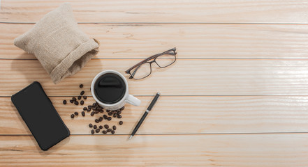
<path fill-rule="evenodd" d="M 56 109 L 37 81 L 12 95 L 12 102 L 42 150 L 70 135 Z"/>

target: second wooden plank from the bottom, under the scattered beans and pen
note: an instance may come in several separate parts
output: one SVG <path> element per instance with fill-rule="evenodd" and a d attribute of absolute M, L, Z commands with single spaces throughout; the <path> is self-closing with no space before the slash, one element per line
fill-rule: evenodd
<path fill-rule="evenodd" d="M 86 112 L 82 117 L 83 106 L 62 104 L 62 100 L 70 97 L 50 97 L 71 134 L 90 134 L 89 123 L 116 125 L 116 134 L 131 134 L 153 97 L 138 98 L 141 106 L 126 105 L 121 119 L 124 125 L 119 126 L 117 118 L 94 122 L 106 112 L 93 117 Z M 93 98 L 88 97 L 85 106 L 92 102 Z M 0 106 L 0 134 L 31 134 L 10 97 L 0 97 Z M 161 96 L 137 134 L 308 132 L 307 108 L 308 96 Z M 79 116 L 71 119 L 75 111 Z"/>

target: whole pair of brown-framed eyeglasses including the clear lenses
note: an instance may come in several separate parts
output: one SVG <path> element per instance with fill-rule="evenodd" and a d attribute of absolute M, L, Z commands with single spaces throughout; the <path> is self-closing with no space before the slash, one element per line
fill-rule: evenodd
<path fill-rule="evenodd" d="M 155 54 L 153 56 L 150 56 L 149 58 L 146 58 L 143 61 L 140 61 L 138 64 L 133 65 L 133 67 L 129 68 L 129 70 L 126 70 L 126 74 L 131 74 L 131 77 L 129 79 L 144 79 L 145 77 L 149 76 L 149 74 L 152 73 L 152 63 L 156 63 L 159 67 L 168 67 L 169 65 L 172 65 L 175 63 L 175 60 L 177 58 L 175 55 L 177 54 L 176 48 L 170 49 L 168 51 L 163 51 L 161 54 Z M 154 59 L 153 61 L 151 61 Z"/>

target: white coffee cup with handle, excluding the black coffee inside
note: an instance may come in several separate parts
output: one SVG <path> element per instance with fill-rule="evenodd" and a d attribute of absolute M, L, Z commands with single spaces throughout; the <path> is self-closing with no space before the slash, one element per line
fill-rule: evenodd
<path fill-rule="evenodd" d="M 98 100 L 98 98 L 96 97 L 95 93 L 94 93 L 94 86 L 95 86 L 95 83 L 96 83 L 96 80 L 101 77 L 103 74 L 107 74 L 107 73 L 112 73 L 112 74 L 117 74 L 117 76 L 121 77 L 125 83 L 125 94 L 124 96 L 122 97 L 121 100 L 119 100 L 119 102 L 116 102 L 114 104 L 105 104 L 103 102 L 101 102 L 100 100 Z M 134 97 L 133 95 L 129 95 L 129 84 L 127 84 L 127 81 L 125 79 L 125 77 L 115 71 L 115 70 L 105 70 L 105 71 L 102 71 L 100 73 L 98 73 L 94 79 L 92 80 L 92 84 L 91 84 L 91 93 L 92 93 L 92 96 L 94 98 L 94 100 L 100 105 L 100 106 L 103 106 L 104 109 L 108 109 L 108 110 L 117 110 L 117 109 L 121 109 L 122 106 L 124 106 L 127 103 L 129 104 L 133 104 L 134 106 L 139 106 L 140 105 L 140 100 L 138 100 L 136 97 Z"/>

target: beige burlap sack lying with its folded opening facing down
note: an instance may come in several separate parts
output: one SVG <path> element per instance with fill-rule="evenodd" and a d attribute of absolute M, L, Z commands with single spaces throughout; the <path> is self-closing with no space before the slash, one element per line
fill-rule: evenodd
<path fill-rule="evenodd" d="M 47 13 L 14 45 L 41 62 L 54 84 L 71 76 L 98 53 L 99 42 L 78 29 L 69 3 Z"/>

